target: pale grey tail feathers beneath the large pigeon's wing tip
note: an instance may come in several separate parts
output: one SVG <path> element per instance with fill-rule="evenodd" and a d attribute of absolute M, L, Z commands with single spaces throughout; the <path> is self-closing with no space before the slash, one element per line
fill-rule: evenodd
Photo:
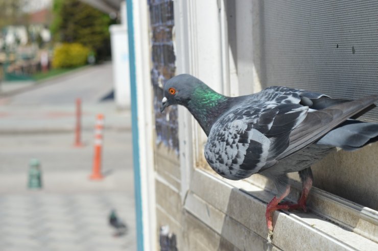
<path fill-rule="evenodd" d="M 378 123 L 350 119 L 327 133 L 317 144 L 337 146 L 352 151 L 376 141 L 378 141 Z"/>

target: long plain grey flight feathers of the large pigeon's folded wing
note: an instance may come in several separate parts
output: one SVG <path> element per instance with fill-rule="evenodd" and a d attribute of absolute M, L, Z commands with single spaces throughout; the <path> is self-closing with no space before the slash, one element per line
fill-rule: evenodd
<path fill-rule="evenodd" d="M 319 140 L 346 119 L 370 109 L 378 95 L 363 97 L 356 101 L 342 102 L 323 110 L 309 112 L 306 118 L 290 134 L 290 145 L 277 160 L 285 159 L 298 150 Z"/>

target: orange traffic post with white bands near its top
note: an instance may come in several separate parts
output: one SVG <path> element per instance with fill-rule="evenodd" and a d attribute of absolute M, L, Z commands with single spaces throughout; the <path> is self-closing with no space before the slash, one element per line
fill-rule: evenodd
<path fill-rule="evenodd" d="M 89 177 L 89 179 L 91 180 L 102 180 L 104 178 L 104 176 L 101 173 L 103 131 L 104 131 L 104 115 L 98 114 L 96 127 L 95 127 L 95 155 L 93 157 L 92 174 Z"/>

